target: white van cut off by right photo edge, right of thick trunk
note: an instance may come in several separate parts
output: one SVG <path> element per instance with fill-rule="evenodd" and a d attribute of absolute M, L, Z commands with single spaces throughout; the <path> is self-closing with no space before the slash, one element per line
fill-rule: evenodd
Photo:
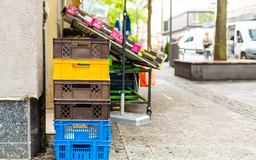
<path fill-rule="evenodd" d="M 256 21 L 233 22 L 226 26 L 231 55 L 238 59 L 256 59 Z"/>

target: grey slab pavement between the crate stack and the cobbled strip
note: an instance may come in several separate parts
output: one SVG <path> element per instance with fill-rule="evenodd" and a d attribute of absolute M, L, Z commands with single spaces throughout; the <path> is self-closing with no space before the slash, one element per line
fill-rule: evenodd
<path fill-rule="evenodd" d="M 173 71 L 166 64 L 155 70 L 150 123 L 117 124 L 129 159 L 256 159 L 255 107 Z M 147 97 L 147 88 L 140 93 Z M 125 111 L 145 114 L 146 106 L 127 105 Z"/>

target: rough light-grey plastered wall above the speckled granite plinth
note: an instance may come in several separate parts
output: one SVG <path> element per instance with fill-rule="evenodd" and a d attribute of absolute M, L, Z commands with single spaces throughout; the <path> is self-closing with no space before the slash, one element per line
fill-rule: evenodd
<path fill-rule="evenodd" d="M 42 0 L 1 0 L 0 99 L 42 94 Z"/>

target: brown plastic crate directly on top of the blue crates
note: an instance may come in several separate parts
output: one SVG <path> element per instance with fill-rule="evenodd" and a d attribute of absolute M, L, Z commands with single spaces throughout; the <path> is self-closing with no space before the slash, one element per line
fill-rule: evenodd
<path fill-rule="evenodd" d="M 54 100 L 53 103 L 54 120 L 110 120 L 110 101 Z"/>

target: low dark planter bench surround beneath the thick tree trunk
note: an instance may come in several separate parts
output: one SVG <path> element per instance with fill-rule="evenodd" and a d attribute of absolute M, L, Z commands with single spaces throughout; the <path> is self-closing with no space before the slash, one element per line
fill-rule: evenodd
<path fill-rule="evenodd" d="M 201 80 L 256 79 L 256 60 L 182 61 L 175 59 L 175 76 Z"/>

